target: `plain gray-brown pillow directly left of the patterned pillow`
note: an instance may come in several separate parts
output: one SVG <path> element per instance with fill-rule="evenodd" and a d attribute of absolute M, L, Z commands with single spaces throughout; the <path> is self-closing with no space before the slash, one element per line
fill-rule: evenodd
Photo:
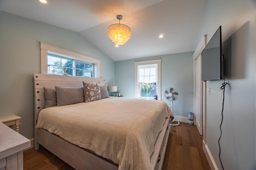
<path fill-rule="evenodd" d="M 60 87 L 55 86 L 57 106 L 65 106 L 84 102 L 83 87 Z"/>

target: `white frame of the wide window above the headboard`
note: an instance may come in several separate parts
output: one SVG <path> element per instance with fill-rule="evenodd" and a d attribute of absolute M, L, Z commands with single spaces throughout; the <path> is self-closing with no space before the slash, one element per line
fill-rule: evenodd
<path fill-rule="evenodd" d="M 60 47 L 56 47 L 54 45 L 46 44 L 43 42 L 40 42 L 41 45 L 41 73 L 42 74 L 48 74 L 48 51 L 58 53 L 61 55 L 65 55 L 70 59 L 80 60 L 88 63 L 94 64 L 94 77 L 100 78 L 100 60 L 95 59 L 86 55 L 82 55 L 79 53 L 76 53 L 74 51 L 69 51 L 67 49 L 62 49 Z"/>

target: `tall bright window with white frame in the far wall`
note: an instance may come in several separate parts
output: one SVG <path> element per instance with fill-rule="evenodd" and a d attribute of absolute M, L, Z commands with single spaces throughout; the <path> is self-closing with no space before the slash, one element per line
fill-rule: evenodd
<path fill-rule="evenodd" d="M 135 98 L 161 100 L 161 60 L 135 62 Z"/>

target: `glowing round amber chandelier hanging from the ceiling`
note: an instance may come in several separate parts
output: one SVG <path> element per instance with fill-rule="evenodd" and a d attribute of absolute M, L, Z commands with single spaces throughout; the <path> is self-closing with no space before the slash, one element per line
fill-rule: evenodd
<path fill-rule="evenodd" d="M 122 15 L 118 15 L 116 18 L 119 20 L 119 23 L 112 24 L 108 27 L 108 37 L 116 45 L 124 45 L 132 35 L 131 29 L 127 25 L 120 24 L 120 20 L 123 18 Z"/>

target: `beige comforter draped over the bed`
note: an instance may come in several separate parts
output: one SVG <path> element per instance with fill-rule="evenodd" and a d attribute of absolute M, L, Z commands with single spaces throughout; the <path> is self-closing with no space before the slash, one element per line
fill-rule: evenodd
<path fill-rule="evenodd" d="M 36 128 L 112 160 L 119 170 L 149 170 L 168 115 L 172 113 L 163 101 L 110 97 L 42 109 Z"/>

